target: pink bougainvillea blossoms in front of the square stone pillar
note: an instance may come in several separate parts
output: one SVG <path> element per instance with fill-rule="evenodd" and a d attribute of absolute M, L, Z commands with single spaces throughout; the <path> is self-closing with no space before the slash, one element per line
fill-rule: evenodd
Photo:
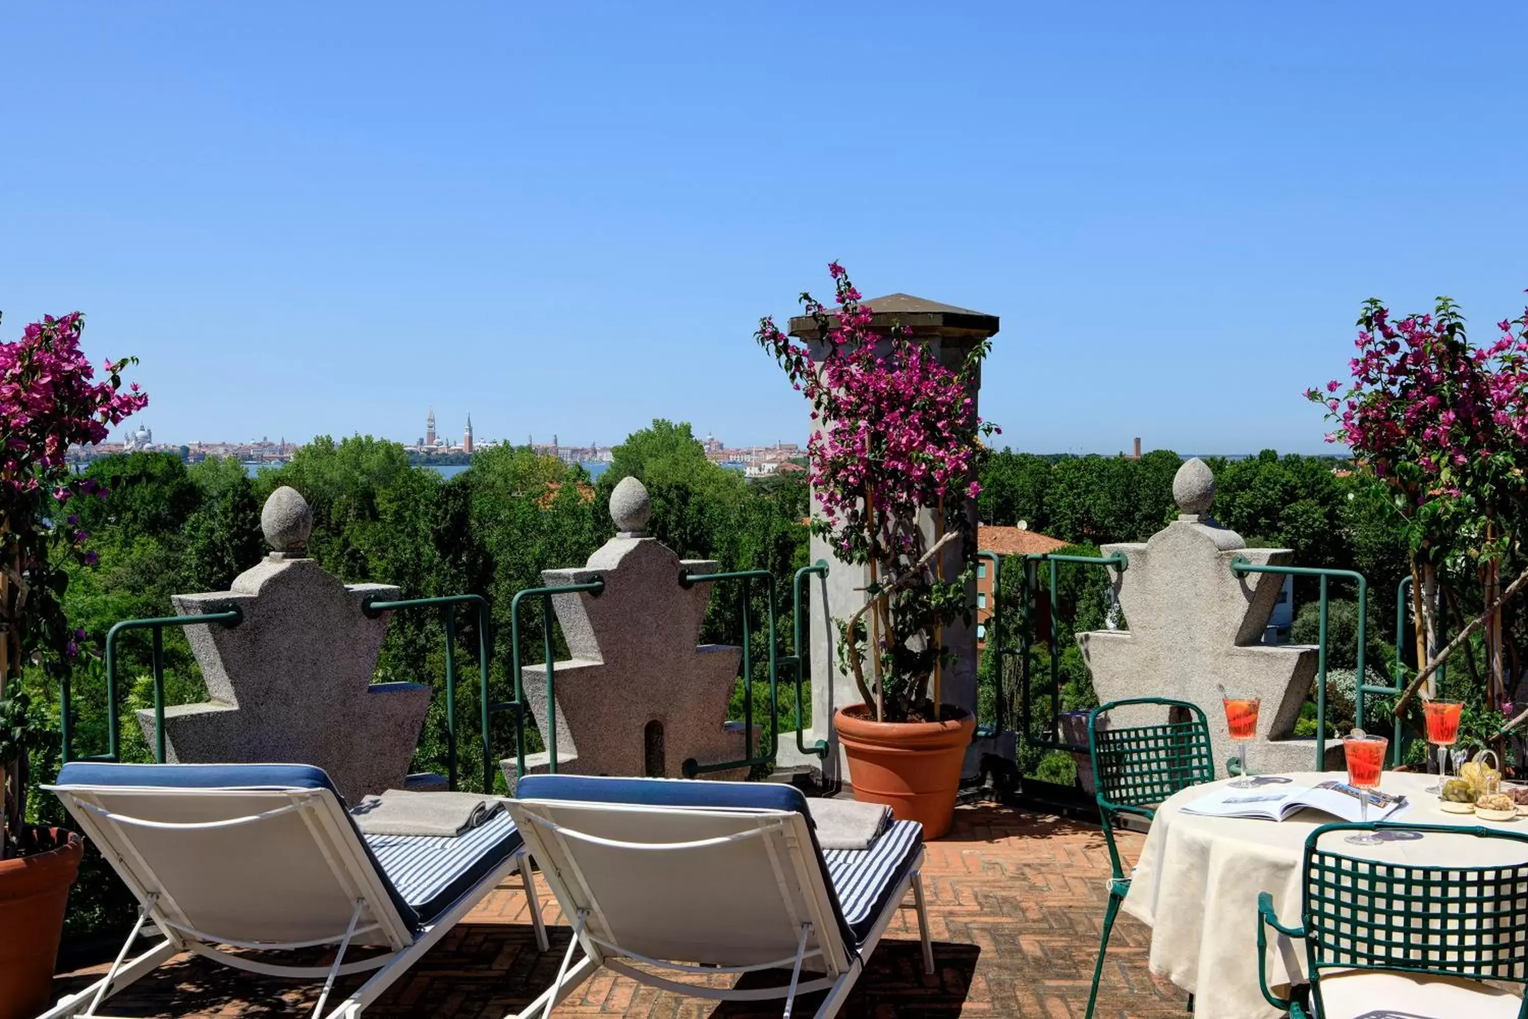
<path fill-rule="evenodd" d="M 860 304 L 843 267 L 833 263 L 828 272 L 837 312 L 802 295 L 825 338 L 819 364 L 772 318 L 759 321 L 755 339 L 811 402 L 810 481 L 839 550 L 872 555 L 880 545 L 895 555 L 911 548 L 920 509 L 944 498 L 953 509 L 981 490 L 976 437 L 996 429 L 976 417 L 972 380 L 987 345 L 953 371 L 906 327 L 876 333 L 874 310 Z"/>

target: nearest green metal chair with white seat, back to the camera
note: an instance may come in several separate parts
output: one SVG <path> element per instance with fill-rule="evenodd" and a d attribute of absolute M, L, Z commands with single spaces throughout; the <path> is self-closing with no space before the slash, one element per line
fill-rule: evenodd
<path fill-rule="evenodd" d="M 1418 866 L 1352 857 L 1323 849 L 1320 842 L 1331 833 L 1394 831 L 1420 834 L 1475 836 L 1478 839 L 1522 843 L 1522 862 L 1499 866 Z M 1465 995 L 1470 1001 L 1453 999 L 1447 1005 L 1424 999 L 1427 984 L 1400 988 L 1404 1001 L 1384 999 L 1374 993 L 1371 975 L 1426 975 L 1464 978 L 1465 981 L 1505 981 L 1528 985 L 1528 836 L 1491 828 L 1452 828 L 1445 825 L 1323 825 L 1305 840 L 1305 874 L 1300 904 L 1300 927 L 1279 923 L 1273 895 L 1258 897 L 1258 981 L 1262 996 L 1291 1019 L 1322 1019 L 1332 1013 L 1348 1014 L 1348 1001 L 1331 1004 L 1322 998 L 1335 996 L 1335 981 L 1346 984 L 1342 996 L 1361 1002 L 1365 1014 L 1415 1016 L 1421 1010 L 1487 1019 L 1513 1014 L 1514 996 L 1499 990 L 1479 988 Z M 1306 976 L 1309 987 L 1293 993 L 1290 1001 L 1268 990 L 1267 956 L 1268 927 L 1291 938 L 1305 938 Z M 1322 970 L 1346 970 L 1328 975 Z M 1351 973 L 1351 976 L 1349 976 Z M 1363 981 L 1371 981 L 1369 993 Z M 1459 981 L 1450 981 L 1459 987 Z M 1369 1001 L 1369 998 L 1375 998 Z M 1516 1010 L 1517 1019 L 1528 1019 L 1528 999 Z"/>

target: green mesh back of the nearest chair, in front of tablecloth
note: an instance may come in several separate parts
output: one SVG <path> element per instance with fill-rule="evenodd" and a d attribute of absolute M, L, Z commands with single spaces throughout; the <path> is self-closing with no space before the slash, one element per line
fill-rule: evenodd
<path fill-rule="evenodd" d="M 1331 833 L 1415 831 L 1510 840 L 1519 862 L 1420 866 L 1348 856 Z M 1305 840 L 1308 976 L 1322 1014 L 1323 969 L 1439 973 L 1528 984 L 1528 836 L 1444 825 L 1325 825 Z M 1523 1013 L 1528 1014 L 1528 1002 Z"/>

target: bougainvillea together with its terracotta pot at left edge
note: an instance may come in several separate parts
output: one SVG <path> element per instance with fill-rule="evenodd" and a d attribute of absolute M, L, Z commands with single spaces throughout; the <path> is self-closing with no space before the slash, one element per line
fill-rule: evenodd
<path fill-rule="evenodd" d="M 108 362 L 104 382 L 79 353 L 78 315 L 44 318 L 0 344 L 0 1019 L 37 1014 L 49 998 L 64 903 L 79 866 L 79 836 L 26 822 L 28 750 L 43 736 L 21 689 L 21 669 L 61 680 L 79 652 L 63 594 L 64 562 L 95 564 L 67 503 L 104 495 L 73 477 L 66 455 L 98 443 L 110 425 L 147 403 L 122 391 Z"/>

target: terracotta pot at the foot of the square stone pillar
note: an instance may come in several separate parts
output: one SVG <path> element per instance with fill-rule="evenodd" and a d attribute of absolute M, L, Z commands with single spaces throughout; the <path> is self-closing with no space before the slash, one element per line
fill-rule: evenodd
<path fill-rule="evenodd" d="M 850 762 L 854 799 L 886 804 L 897 820 L 917 820 L 924 839 L 950 830 L 975 717 L 886 723 L 876 721 L 865 704 L 853 704 L 839 709 L 833 727 Z"/>

